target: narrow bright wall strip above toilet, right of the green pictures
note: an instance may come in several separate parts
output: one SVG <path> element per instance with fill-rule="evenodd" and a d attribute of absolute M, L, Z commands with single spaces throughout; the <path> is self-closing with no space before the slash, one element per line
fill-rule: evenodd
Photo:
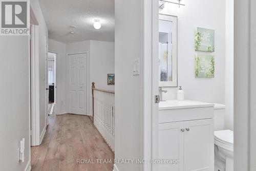
<path fill-rule="evenodd" d="M 225 129 L 233 131 L 234 116 L 234 0 L 226 0 Z"/>

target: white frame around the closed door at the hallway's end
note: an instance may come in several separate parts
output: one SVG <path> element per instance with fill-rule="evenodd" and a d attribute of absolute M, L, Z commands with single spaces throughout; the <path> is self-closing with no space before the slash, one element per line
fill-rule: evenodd
<path fill-rule="evenodd" d="M 86 59 L 86 113 L 84 115 L 88 114 L 88 109 L 90 109 L 91 103 L 88 103 L 88 97 L 91 99 L 91 93 L 90 92 L 90 56 L 88 52 L 81 52 L 81 53 L 67 53 L 66 55 L 66 79 L 67 79 L 67 84 L 66 84 L 66 111 L 69 113 L 69 55 L 80 55 L 80 54 L 87 54 L 87 59 Z"/>

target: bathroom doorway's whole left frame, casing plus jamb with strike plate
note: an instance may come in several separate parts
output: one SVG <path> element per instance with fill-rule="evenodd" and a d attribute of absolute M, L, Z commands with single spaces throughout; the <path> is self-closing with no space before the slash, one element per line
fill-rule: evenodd
<path fill-rule="evenodd" d="M 158 103 L 155 103 L 155 95 L 158 95 L 158 0 L 144 0 L 141 3 L 141 46 L 143 71 L 141 87 L 142 114 L 141 124 L 142 154 L 141 156 L 149 164 L 143 164 L 141 170 L 158 170 L 157 164 L 151 164 L 152 159 L 158 159 Z"/>

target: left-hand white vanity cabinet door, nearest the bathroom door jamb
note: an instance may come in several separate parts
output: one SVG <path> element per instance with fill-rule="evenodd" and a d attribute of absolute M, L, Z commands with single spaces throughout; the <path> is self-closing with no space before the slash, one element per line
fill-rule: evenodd
<path fill-rule="evenodd" d="M 184 122 L 159 124 L 159 159 L 179 160 L 180 163 L 159 164 L 158 170 L 184 170 L 184 132 L 182 129 L 184 129 Z"/>

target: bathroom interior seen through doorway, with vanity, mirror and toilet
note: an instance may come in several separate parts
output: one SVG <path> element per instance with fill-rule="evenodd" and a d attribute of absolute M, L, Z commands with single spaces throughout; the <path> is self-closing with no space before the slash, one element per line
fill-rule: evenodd
<path fill-rule="evenodd" d="M 159 170 L 233 170 L 233 17 L 233 0 L 159 1 L 159 158 L 180 160 Z"/>

